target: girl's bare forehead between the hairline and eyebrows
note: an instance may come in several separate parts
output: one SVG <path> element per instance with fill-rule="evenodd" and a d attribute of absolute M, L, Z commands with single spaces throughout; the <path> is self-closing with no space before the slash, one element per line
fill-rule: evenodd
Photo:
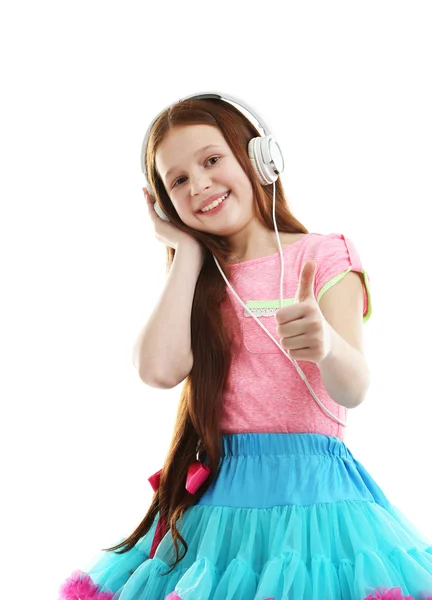
<path fill-rule="evenodd" d="M 156 150 L 156 169 L 164 181 L 187 161 L 199 158 L 206 146 L 228 148 L 222 132 L 212 125 L 186 125 L 171 129 Z M 210 150 L 210 148 L 208 149 Z"/>

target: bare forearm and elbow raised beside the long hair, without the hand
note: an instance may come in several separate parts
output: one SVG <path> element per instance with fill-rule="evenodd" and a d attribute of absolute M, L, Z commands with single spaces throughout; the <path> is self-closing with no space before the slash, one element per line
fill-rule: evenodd
<path fill-rule="evenodd" d="M 190 318 L 204 261 L 198 244 L 179 244 L 163 293 L 133 350 L 140 378 L 152 387 L 172 388 L 191 371 Z"/>

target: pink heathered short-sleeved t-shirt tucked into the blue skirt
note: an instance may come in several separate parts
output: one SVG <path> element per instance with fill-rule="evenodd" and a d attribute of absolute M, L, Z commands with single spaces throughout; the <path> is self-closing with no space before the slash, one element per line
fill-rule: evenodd
<path fill-rule="evenodd" d="M 295 300 L 300 272 L 307 259 L 317 268 L 314 293 L 322 295 L 349 271 L 362 274 L 363 322 L 372 312 L 369 278 L 354 244 L 340 233 L 308 233 L 283 248 L 285 261 L 283 297 Z M 279 341 L 274 313 L 280 306 L 279 252 L 231 265 L 228 281 Z M 327 415 L 312 397 L 294 365 L 240 304 L 228 286 L 222 303 L 232 338 L 232 363 L 223 392 L 222 434 L 229 433 L 321 433 L 344 439 L 345 428 Z M 321 403 L 346 422 L 347 409 L 326 392 L 315 363 L 297 361 Z"/>

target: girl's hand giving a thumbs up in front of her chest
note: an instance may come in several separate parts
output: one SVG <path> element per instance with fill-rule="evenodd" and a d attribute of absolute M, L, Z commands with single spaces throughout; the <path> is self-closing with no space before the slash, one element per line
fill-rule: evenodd
<path fill-rule="evenodd" d="M 297 303 L 280 308 L 275 319 L 280 344 L 287 354 L 294 360 L 319 364 L 332 350 L 333 330 L 315 300 L 315 271 L 315 261 L 306 261 L 300 273 Z"/>

